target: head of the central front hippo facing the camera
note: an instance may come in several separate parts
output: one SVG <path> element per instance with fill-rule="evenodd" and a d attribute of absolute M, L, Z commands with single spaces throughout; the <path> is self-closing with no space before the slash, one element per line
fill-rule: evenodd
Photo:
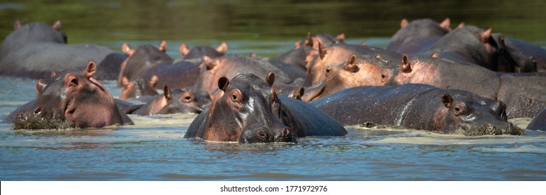
<path fill-rule="evenodd" d="M 275 75 L 264 81 L 256 75 L 218 80 L 220 92 L 210 104 L 203 139 L 209 141 L 296 142 L 285 125 L 285 112 L 275 89 Z"/>

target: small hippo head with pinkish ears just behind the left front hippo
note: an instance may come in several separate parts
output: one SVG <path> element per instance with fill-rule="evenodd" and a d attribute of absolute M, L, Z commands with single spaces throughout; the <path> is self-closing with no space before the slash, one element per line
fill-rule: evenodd
<path fill-rule="evenodd" d="M 144 79 L 138 79 L 137 81 L 129 81 L 127 77 L 123 77 L 123 91 L 120 94 L 120 99 L 122 100 L 131 100 L 134 98 L 140 98 L 143 95 L 158 95 L 157 90 L 155 90 L 155 85 L 157 84 L 157 76 L 153 76 L 150 81 L 145 81 Z"/>

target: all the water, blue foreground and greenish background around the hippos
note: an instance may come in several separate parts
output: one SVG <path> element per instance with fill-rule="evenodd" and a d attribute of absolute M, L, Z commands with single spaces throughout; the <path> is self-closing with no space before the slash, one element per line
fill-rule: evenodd
<path fill-rule="evenodd" d="M 71 43 L 119 51 L 122 42 L 158 45 L 166 39 L 167 53 L 180 58 L 181 42 L 226 40 L 231 54 L 263 57 L 286 52 L 308 31 L 344 32 L 347 42 L 385 47 L 402 17 L 450 17 L 453 27 L 462 21 L 493 26 L 545 47 L 544 7 L 543 1 L 17 1 L 0 3 L 6 24 L 0 34 L 5 37 L 15 19 L 60 18 Z M 115 81 L 102 82 L 120 95 Z M 0 118 L 33 100 L 34 84 L 0 77 Z M 136 125 L 69 131 L 14 131 L 1 122 L 0 180 L 546 180 L 544 131 L 461 137 L 347 127 L 345 137 L 301 138 L 298 144 L 211 143 L 182 138 L 195 116 L 130 116 Z M 512 122 L 526 127 L 530 120 Z"/>

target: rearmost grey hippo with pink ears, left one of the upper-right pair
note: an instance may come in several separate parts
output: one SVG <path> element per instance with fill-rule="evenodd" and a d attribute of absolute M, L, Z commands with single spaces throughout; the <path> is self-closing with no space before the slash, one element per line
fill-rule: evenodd
<path fill-rule="evenodd" d="M 429 18 L 413 20 L 403 19 L 400 30 L 394 33 L 387 50 L 398 54 L 420 54 L 434 45 L 442 36 L 449 33 L 451 21 L 434 22 Z"/>

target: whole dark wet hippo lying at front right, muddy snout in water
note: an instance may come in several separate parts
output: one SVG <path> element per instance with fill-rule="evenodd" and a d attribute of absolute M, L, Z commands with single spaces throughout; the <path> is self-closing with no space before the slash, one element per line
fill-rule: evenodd
<path fill-rule="evenodd" d="M 524 134 L 508 123 L 503 102 L 426 84 L 359 86 L 309 103 L 343 125 L 372 123 L 466 136 Z"/>

